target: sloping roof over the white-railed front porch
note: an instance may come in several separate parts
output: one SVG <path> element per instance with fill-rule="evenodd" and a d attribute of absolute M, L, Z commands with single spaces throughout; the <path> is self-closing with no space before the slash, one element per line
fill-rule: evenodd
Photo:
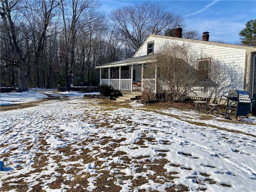
<path fill-rule="evenodd" d="M 126 65 L 137 65 L 142 63 L 149 63 L 156 61 L 157 54 L 150 54 L 139 57 L 132 57 L 121 61 L 115 61 L 111 63 L 106 63 L 100 66 L 96 66 L 95 68 L 107 68 L 107 67 L 117 67 L 117 66 L 126 66 Z"/>

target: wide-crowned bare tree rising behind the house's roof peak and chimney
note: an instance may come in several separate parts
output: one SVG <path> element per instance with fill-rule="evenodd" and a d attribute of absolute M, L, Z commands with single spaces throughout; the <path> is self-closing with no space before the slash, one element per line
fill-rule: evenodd
<path fill-rule="evenodd" d="M 166 28 L 174 29 L 183 18 L 168 12 L 162 4 L 136 4 L 124 6 L 110 12 L 110 18 L 122 34 L 122 40 L 137 50 L 148 34 L 163 34 Z"/>

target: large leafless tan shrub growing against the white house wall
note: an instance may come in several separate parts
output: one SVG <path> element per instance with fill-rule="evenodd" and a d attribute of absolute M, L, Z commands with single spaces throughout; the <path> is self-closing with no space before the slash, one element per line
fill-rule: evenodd
<path fill-rule="evenodd" d="M 237 68 L 236 68 L 237 69 Z M 192 50 L 188 43 L 168 44 L 156 56 L 155 64 L 146 66 L 144 78 L 156 79 L 158 95 L 166 101 L 178 101 L 195 91 L 208 92 L 215 98 L 227 87 L 242 87 L 242 70 L 234 70 L 234 64 L 212 58 Z"/>

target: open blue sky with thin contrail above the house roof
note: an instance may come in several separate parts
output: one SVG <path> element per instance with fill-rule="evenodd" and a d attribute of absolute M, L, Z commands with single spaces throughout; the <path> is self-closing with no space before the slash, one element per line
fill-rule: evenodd
<path fill-rule="evenodd" d="M 102 8 L 109 12 L 112 9 L 128 4 L 140 4 L 136 0 L 101 0 Z M 256 0 L 151 0 L 161 2 L 167 10 L 174 10 L 185 18 L 188 28 L 200 33 L 210 32 L 210 41 L 222 40 L 225 43 L 237 44 L 239 32 L 245 28 L 248 20 L 256 19 Z"/>

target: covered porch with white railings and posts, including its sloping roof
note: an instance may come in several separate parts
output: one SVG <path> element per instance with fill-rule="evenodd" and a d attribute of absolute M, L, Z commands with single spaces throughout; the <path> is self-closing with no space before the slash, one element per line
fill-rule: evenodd
<path fill-rule="evenodd" d="M 145 78 L 147 66 L 155 62 L 155 55 L 129 58 L 97 66 L 100 69 L 100 85 L 107 84 L 120 91 L 156 93 L 156 73 Z"/>

